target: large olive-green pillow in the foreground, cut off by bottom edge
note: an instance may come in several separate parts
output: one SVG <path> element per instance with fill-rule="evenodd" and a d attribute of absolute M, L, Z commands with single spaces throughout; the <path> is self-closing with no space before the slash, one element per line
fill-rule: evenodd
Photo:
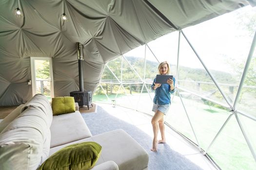
<path fill-rule="evenodd" d="M 101 153 L 96 142 L 69 145 L 51 155 L 38 170 L 89 170 L 94 167 Z"/>

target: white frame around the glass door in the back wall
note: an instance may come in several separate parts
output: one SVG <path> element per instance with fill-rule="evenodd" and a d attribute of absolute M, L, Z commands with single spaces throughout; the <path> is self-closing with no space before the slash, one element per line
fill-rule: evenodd
<path fill-rule="evenodd" d="M 52 57 L 30 57 L 30 68 L 31 68 L 31 85 L 32 85 L 32 95 L 36 95 L 36 75 L 35 75 L 35 60 L 49 60 L 49 70 L 50 70 L 50 85 L 51 85 L 51 98 L 54 98 L 54 79 L 53 79 L 53 65 Z"/>

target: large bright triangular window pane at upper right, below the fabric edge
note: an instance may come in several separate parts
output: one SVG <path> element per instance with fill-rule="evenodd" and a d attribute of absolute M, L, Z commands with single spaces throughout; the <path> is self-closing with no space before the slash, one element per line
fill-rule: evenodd
<path fill-rule="evenodd" d="M 255 9 L 248 5 L 183 29 L 194 49 L 231 102 L 235 100 L 242 76 L 240 68 L 244 67 L 250 50 L 255 33 L 255 21 Z M 184 53 L 184 49 L 181 52 Z M 194 57 L 187 63 L 194 65 Z M 194 71 L 198 73 L 199 70 Z M 198 77 L 202 77 L 202 82 L 208 82 L 203 73 Z M 216 93 L 214 99 L 220 101 L 219 95 Z M 222 102 L 224 101 L 222 100 Z"/>

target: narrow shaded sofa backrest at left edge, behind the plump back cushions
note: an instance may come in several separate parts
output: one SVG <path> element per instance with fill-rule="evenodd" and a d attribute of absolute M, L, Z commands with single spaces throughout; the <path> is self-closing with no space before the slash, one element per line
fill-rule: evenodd
<path fill-rule="evenodd" d="M 0 133 L 2 130 L 15 118 L 17 118 L 22 111 L 24 104 L 19 105 L 16 109 L 14 109 L 9 115 L 7 115 L 1 122 L 0 122 Z"/>

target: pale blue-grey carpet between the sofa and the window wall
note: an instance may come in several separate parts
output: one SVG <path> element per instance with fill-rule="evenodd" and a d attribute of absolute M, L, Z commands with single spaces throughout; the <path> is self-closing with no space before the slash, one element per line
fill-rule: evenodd
<path fill-rule="evenodd" d="M 168 144 L 160 144 L 158 152 L 150 151 L 151 136 L 123 120 L 110 115 L 101 106 L 97 113 L 82 114 L 92 135 L 98 135 L 115 129 L 123 129 L 132 136 L 149 154 L 149 170 L 202 170 L 180 153 L 173 151 Z"/>

